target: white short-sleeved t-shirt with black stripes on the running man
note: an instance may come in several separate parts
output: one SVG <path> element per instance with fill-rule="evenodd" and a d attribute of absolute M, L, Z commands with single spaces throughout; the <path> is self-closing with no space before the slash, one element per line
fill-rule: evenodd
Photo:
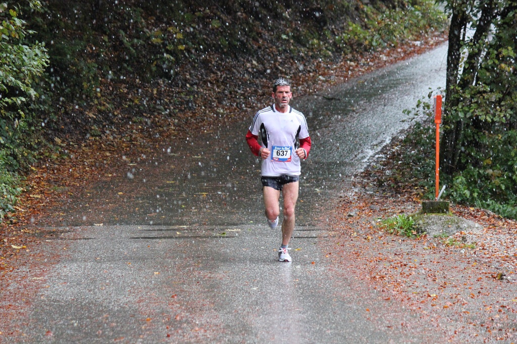
<path fill-rule="evenodd" d="M 271 151 L 269 157 L 262 160 L 262 176 L 300 175 L 300 158 L 295 153 L 296 139 L 309 137 L 303 113 L 291 106 L 287 112 L 279 112 L 275 105 L 271 105 L 255 114 L 249 130 L 261 138 L 263 147 Z"/>

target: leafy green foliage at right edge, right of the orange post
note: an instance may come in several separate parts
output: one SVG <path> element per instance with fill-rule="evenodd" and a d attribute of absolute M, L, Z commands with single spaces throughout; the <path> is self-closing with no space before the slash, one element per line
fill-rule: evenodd
<path fill-rule="evenodd" d="M 451 200 L 517 218 L 517 8 L 508 1 L 493 11 L 463 5 L 448 3 L 490 25 L 470 18 L 476 34 L 457 52 L 464 58 L 448 85 L 442 175 Z"/>

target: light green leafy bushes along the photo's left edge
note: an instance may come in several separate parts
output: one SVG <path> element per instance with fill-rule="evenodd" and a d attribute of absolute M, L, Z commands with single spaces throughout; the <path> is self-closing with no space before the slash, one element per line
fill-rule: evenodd
<path fill-rule="evenodd" d="M 28 5 L 39 8 L 35 0 Z M 43 43 L 27 44 L 34 32 L 25 28 L 19 14 L 19 8 L 0 4 L 0 159 L 11 172 L 35 158 L 37 118 L 31 110 L 39 96 L 35 85 L 49 61 Z"/>

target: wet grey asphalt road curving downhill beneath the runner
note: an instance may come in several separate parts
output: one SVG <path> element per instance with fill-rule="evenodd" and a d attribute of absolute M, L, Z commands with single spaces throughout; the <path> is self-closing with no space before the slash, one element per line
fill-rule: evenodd
<path fill-rule="evenodd" d="M 264 220 L 249 123 L 173 143 L 90 186 L 45 228 L 66 255 L 47 274 L 23 342 L 435 341 L 419 328 L 390 330 L 417 315 L 393 313 L 396 305 L 377 302 L 360 281 L 334 279 L 332 269 L 348 267 L 325 259 L 325 209 L 409 125 L 402 110 L 445 86 L 445 61 L 442 46 L 321 93 L 334 100 L 293 99 L 313 149 L 302 165 L 292 263 L 276 261 L 280 230 Z"/>

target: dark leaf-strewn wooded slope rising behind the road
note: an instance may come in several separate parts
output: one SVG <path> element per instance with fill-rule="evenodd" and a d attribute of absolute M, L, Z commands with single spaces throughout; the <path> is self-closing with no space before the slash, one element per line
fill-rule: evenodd
<path fill-rule="evenodd" d="M 41 93 L 53 99 L 57 134 L 82 137 L 149 113 L 181 121 L 206 97 L 213 106 L 195 122 L 221 105 L 255 106 L 272 78 L 420 40 L 444 23 L 420 0 L 48 2 L 33 20 L 51 56 Z"/>

